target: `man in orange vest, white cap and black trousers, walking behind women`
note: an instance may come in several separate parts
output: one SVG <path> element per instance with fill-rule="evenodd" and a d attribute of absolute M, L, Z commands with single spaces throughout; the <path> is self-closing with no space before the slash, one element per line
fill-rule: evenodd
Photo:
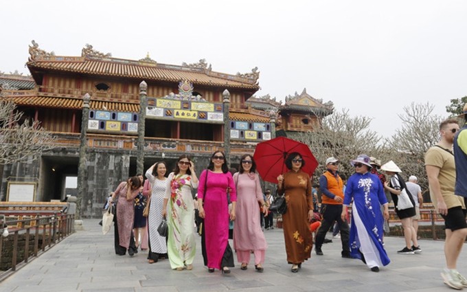
<path fill-rule="evenodd" d="M 339 177 L 339 160 L 334 157 L 326 159 L 326 172 L 319 177 L 319 190 L 321 190 L 321 214 L 323 221 L 316 235 L 315 252 L 318 256 L 323 255 L 321 246 L 324 242 L 324 237 L 329 228 L 334 224 L 334 221 L 341 229 L 341 241 L 343 258 L 352 258 L 350 256 L 349 246 L 349 225 L 341 218 L 342 202 L 344 199 L 343 181 Z"/>

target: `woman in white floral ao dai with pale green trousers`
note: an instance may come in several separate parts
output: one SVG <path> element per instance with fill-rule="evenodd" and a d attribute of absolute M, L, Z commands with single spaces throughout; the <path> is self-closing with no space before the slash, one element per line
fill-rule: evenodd
<path fill-rule="evenodd" d="M 186 154 L 176 161 L 174 172 L 167 182 L 166 196 L 163 199 L 162 216 L 166 217 L 170 267 L 181 271 L 193 269 L 196 242 L 194 240 L 194 203 L 192 189 L 198 188 L 198 177 L 194 163 Z"/>

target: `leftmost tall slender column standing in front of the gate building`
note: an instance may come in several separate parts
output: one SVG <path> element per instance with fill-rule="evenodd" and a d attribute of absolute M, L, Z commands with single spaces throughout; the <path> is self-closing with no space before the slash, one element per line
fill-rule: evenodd
<path fill-rule="evenodd" d="M 80 135 L 80 162 L 78 164 L 78 200 L 81 200 L 80 210 L 77 212 L 78 217 L 85 210 L 84 204 L 87 200 L 84 199 L 84 190 L 86 186 L 86 150 L 87 150 L 87 128 L 89 122 L 89 102 L 91 96 L 89 93 L 84 94 L 82 98 L 82 117 L 81 117 L 81 135 Z"/>

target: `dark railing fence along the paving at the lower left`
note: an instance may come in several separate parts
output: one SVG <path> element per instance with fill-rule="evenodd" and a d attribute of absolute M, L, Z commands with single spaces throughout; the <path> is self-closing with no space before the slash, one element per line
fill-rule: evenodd
<path fill-rule="evenodd" d="M 2 230 L 0 232 L 0 262 L 2 262 L 2 256 L 7 254 L 3 252 L 5 242 L 9 242 L 10 238 L 13 238 L 13 244 L 10 269 L 0 271 L 0 282 L 27 265 L 27 262 L 41 256 L 45 251 L 51 249 L 54 245 L 69 236 L 73 232 L 74 220 L 74 214 L 62 214 L 60 212 L 51 216 L 37 216 L 36 218 L 23 220 L 5 221 L 5 216 L 3 216 L 3 219 L 0 219 L 0 230 Z M 5 229 L 8 231 L 5 232 Z M 22 260 L 18 260 L 19 237 L 23 234 L 25 236 L 24 256 Z M 31 234 L 34 234 L 32 247 L 30 246 Z M 41 246 L 39 246 L 40 239 Z M 32 251 L 31 256 L 30 251 Z"/>

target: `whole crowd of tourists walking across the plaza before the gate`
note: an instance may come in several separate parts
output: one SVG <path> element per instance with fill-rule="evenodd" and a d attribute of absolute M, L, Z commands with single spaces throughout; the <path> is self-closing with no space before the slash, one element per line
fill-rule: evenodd
<path fill-rule="evenodd" d="M 456 270 L 467 236 L 465 128 L 459 130 L 457 120 L 442 122 L 442 139 L 427 151 L 425 158 L 433 205 L 446 221 L 446 269 L 442 278 L 454 289 L 467 287 L 466 278 Z M 341 161 L 329 157 L 324 162 L 326 171 L 315 186 L 302 169 L 306 161 L 301 153 L 288 153 L 284 163 L 288 171 L 277 177 L 277 195 L 284 196 L 286 201 L 282 228 L 286 262 L 293 273 L 311 257 L 314 242 L 315 253 L 323 256 L 326 234 L 333 229 L 333 238 L 341 240 L 342 258 L 360 259 L 374 272 L 388 265 L 384 234 L 389 232 L 389 201 L 394 202 L 405 239 L 404 247 L 397 253 L 422 253 L 417 235 L 422 192 L 417 177 L 411 175 L 406 182 L 394 161 L 381 165 L 374 157 L 358 155 L 350 161 L 354 174 L 345 180 L 339 175 Z M 248 269 L 253 254 L 255 271 L 263 272 L 268 247 L 264 227 L 273 229 L 269 207 L 274 197 L 269 189 L 263 194 L 256 168 L 253 156 L 243 155 L 238 172 L 231 172 L 225 154 L 216 151 L 199 176 L 194 161 L 181 155 L 169 175 L 161 161 L 146 171 L 146 182 L 139 175 L 120 183 L 110 198 L 117 203 L 115 254 L 122 256 L 128 251 L 133 256 L 138 248 L 148 249 L 150 264 L 168 258 L 172 269 L 191 270 L 197 232 L 209 273 L 216 269 L 230 273 L 234 254 L 241 270 Z M 456 169 L 462 171 L 456 173 Z M 196 197 L 194 189 L 198 190 Z M 157 231 L 164 220 L 168 225 L 166 236 Z M 232 222 L 233 249 L 229 243 Z"/>

